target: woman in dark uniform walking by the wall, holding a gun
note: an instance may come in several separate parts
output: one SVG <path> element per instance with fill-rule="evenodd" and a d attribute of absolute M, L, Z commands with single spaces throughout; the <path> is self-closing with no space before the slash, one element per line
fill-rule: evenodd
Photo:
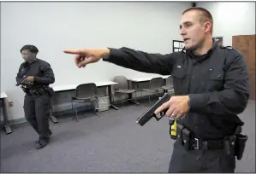
<path fill-rule="evenodd" d="M 26 78 L 21 84 L 26 92 L 24 112 L 27 122 L 39 134 L 35 142 L 36 148 L 44 148 L 52 134 L 49 128 L 51 111 L 52 89 L 49 84 L 55 81 L 54 73 L 48 62 L 37 58 L 39 49 L 34 45 L 25 45 L 21 48 L 21 55 L 25 62 L 21 64 L 16 77 L 17 83 Z"/>

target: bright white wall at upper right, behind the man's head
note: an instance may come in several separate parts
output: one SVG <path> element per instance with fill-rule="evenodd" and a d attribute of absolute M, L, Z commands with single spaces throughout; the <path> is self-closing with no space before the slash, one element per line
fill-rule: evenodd
<path fill-rule="evenodd" d="M 223 37 L 223 45 L 232 46 L 232 36 L 255 34 L 255 2 L 196 3 L 213 17 L 213 36 Z"/>

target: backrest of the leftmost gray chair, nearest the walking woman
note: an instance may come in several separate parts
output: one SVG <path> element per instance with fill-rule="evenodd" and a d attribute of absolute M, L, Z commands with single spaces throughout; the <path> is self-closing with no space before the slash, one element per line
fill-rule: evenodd
<path fill-rule="evenodd" d="M 75 97 L 91 98 L 97 96 L 97 86 L 94 83 L 79 84 L 75 89 Z"/>

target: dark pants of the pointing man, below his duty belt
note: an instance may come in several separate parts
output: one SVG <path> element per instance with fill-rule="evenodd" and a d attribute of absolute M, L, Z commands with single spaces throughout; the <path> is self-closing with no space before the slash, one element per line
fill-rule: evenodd
<path fill-rule="evenodd" d="M 181 140 L 174 144 L 170 159 L 170 173 L 179 172 L 235 172 L 235 155 L 225 154 L 224 150 L 192 150 L 186 151 Z"/>

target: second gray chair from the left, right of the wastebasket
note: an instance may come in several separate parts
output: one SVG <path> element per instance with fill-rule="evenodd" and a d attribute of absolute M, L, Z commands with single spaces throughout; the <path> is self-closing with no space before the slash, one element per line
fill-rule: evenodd
<path fill-rule="evenodd" d="M 116 76 L 113 79 L 114 82 L 116 82 L 117 84 L 114 85 L 114 91 L 115 94 L 126 94 L 129 96 L 132 96 L 135 93 L 135 101 L 137 101 L 137 96 L 136 96 L 136 90 L 134 89 L 129 89 L 128 88 L 128 79 L 125 78 L 124 76 Z M 114 94 L 114 101 L 115 101 L 115 94 Z M 131 101 L 132 97 L 128 97 L 128 99 L 122 99 L 122 107 L 123 107 L 123 102 L 126 101 Z"/>

